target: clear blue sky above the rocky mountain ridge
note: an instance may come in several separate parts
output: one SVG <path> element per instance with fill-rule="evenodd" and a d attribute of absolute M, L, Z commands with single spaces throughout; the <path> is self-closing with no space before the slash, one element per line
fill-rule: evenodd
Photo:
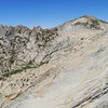
<path fill-rule="evenodd" d="M 8 26 L 48 28 L 85 14 L 108 22 L 108 0 L 0 0 L 0 24 Z"/>

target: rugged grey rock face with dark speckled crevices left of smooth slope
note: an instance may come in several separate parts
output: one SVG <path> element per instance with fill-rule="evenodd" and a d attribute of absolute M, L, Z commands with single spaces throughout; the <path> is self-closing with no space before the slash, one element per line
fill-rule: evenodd
<path fill-rule="evenodd" d="M 57 37 L 57 28 L 0 26 L 0 76 L 40 65 L 45 49 Z"/>

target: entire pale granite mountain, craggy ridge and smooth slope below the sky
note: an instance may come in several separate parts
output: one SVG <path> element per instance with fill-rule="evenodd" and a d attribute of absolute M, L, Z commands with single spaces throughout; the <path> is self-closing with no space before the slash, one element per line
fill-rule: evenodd
<path fill-rule="evenodd" d="M 108 23 L 0 25 L 0 108 L 108 108 Z"/>

